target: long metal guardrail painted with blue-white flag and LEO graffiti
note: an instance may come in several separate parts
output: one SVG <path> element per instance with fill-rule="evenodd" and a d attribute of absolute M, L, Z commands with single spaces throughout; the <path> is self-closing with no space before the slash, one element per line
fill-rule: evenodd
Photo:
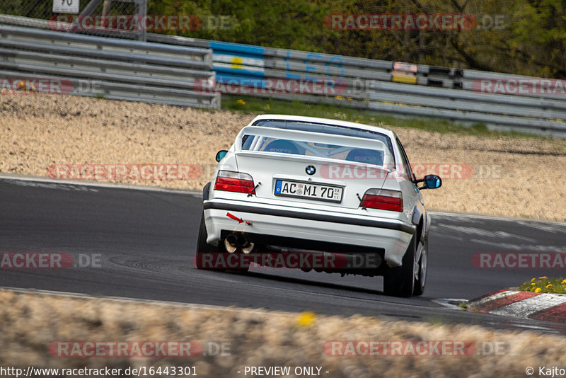
<path fill-rule="evenodd" d="M 20 18 L 0 15 L 0 23 L 22 22 Z M 37 27 L 48 28 L 47 21 Z M 226 94 L 328 103 L 402 117 L 442 118 L 463 125 L 481 122 L 492 130 L 566 137 L 566 93 L 478 91 L 478 81 L 482 79 L 538 81 L 540 78 L 153 33 L 147 33 L 146 39 L 154 44 L 212 50 L 216 83 L 236 89 L 235 93 Z M 183 77 L 181 72 L 178 74 L 175 76 Z M 294 82 L 306 84 L 305 90 L 301 91 L 299 85 L 289 91 L 285 84 Z M 280 90 L 272 91 L 270 88 L 277 88 L 277 83 L 282 84 Z M 309 92 L 313 83 L 331 85 L 328 91 Z"/>

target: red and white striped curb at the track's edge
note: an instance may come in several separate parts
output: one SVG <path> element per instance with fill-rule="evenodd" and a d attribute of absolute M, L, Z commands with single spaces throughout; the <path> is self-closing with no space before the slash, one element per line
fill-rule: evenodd
<path fill-rule="evenodd" d="M 566 294 L 499 290 L 470 300 L 468 309 L 488 314 L 566 323 Z"/>

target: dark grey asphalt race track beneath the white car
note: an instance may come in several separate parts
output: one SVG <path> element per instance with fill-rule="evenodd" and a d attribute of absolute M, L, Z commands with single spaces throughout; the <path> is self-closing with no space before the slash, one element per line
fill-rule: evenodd
<path fill-rule="evenodd" d="M 471 258 L 480 252 L 566 253 L 565 224 L 433 213 L 427 289 L 422 297 L 399 299 L 382 294 L 381 277 L 197 270 L 192 258 L 201 212 L 197 194 L 0 178 L 0 253 L 101 258 L 98 268 L 0 269 L 0 286 L 566 333 L 558 324 L 441 305 L 560 275 L 556 269 L 479 269 Z"/>

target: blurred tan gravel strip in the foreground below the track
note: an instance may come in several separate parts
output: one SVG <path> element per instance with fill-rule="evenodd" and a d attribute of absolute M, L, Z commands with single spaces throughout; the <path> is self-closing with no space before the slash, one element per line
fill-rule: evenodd
<path fill-rule="evenodd" d="M 206 378 L 243 377 L 244 367 L 250 365 L 319 366 L 323 376 L 333 378 L 479 378 L 523 377 L 529 366 L 536 372 L 539 366 L 566 366 L 566 339 L 532 331 L 364 316 L 200 309 L 8 290 L 0 290 L 0 327 L 0 366 L 24 369 L 182 365 L 195 366 L 198 376 Z M 224 343 L 230 353 L 195 357 L 57 357 L 57 352 L 49 353 L 50 344 L 69 340 L 199 340 L 201 345 Z M 343 357 L 323 351 L 329 340 L 459 340 L 477 349 L 463 357 Z M 495 353 L 486 345 L 499 345 L 499 350 Z"/>

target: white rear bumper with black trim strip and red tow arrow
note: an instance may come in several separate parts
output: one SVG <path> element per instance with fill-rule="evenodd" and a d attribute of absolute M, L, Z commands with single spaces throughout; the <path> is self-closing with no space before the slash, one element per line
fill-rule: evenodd
<path fill-rule="evenodd" d="M 228 213 L 233 217 L 229 217 Z M 273 245 L 279 244 L 281 236 L 304 240 L 304 249 L 320 251 L 329 251 L 326 247 L 330 244 L 383 248 L 384 258 L 391 267 L 401 264 L 415 232 L 414 225 L 396 219 L 350 217 L 341 212 L 258 206 L 245 201 L 219 199 L 204 201 L 204 222 L 207 242 L 213 245 L 218 244 L 222 235 L 229 231 L 274 236 Z M 315 248 L 317 245 L 320 248 Z"/>

